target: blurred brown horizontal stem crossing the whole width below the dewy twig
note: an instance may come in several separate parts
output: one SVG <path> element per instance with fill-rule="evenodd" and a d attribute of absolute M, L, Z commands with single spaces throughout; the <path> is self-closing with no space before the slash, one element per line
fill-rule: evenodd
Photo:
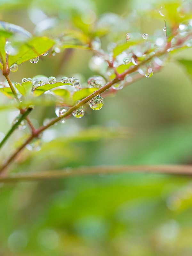
<path fill-rule="evenodd" d="M 0 182 L 59 179 L 73 176 L 147 172 L 158 174 L 192 175 L 191 165 L 119 165 L 66 168 L 45 172 L 21 172 L 0 177 Z"/>

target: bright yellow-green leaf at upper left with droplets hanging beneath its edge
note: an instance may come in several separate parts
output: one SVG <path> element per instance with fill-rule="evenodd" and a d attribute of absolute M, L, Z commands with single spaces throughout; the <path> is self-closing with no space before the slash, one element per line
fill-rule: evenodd
<path fill-rule="evenodd" d="M 27 60 L 34 59 L 42 53 L 48 51 L 54 44 L 54 41 L 48 37 L 34 37 L 28 42 L 20 45 L 17 55 L 9 56 L 9 65 L 14 63 L 21 64 Z"/>

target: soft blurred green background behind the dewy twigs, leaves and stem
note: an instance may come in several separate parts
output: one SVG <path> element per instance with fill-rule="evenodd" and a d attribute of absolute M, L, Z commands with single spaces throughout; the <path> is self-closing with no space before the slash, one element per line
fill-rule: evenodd
<path fill-rule="evenodd" d="M 0 1 L 0 19 L 33 33 L 31 8 L 40 8 L 48 17 L 64 17 L 63 22 L 86 10 L 98 16 L 114 12 L 129 18 L 125 33 L 153 34 L 164 27 L 164 20 L 151 19 L 146 13 L 159 5 L 150 0 L 5 0 Z M 62 65 L 60 53 L 35 65 L 24 63 L 10 76 L 21 81 L 39 74 L 79 74 L 86 81 L 96 74 L 88 65 L 91 57 L 90 52 L 75 50 Z M 50 128 L 43 135 L 41 151 L 24 150 L 12 171 L 191 164 L 192 86 L 177 62 L 191 57 L 190 48 L 178 52 L 159 73 L 105 98 L 100 111 L 87 108 L 82 119 L 70 118 Z M 17 114 L 0 112 L 1 138 Z M 45 117 L 54 116 L 52 107 L 38 107 L 30 114 L 36 127 Z M 25 135 L 24 131 L 12 135 L 1 151 L 1 162 L 14 150 L 14 141 Z M 137 173 L 0 183 L 0 255 L 191 256 L 191 214 L 191 177 Z"/>

